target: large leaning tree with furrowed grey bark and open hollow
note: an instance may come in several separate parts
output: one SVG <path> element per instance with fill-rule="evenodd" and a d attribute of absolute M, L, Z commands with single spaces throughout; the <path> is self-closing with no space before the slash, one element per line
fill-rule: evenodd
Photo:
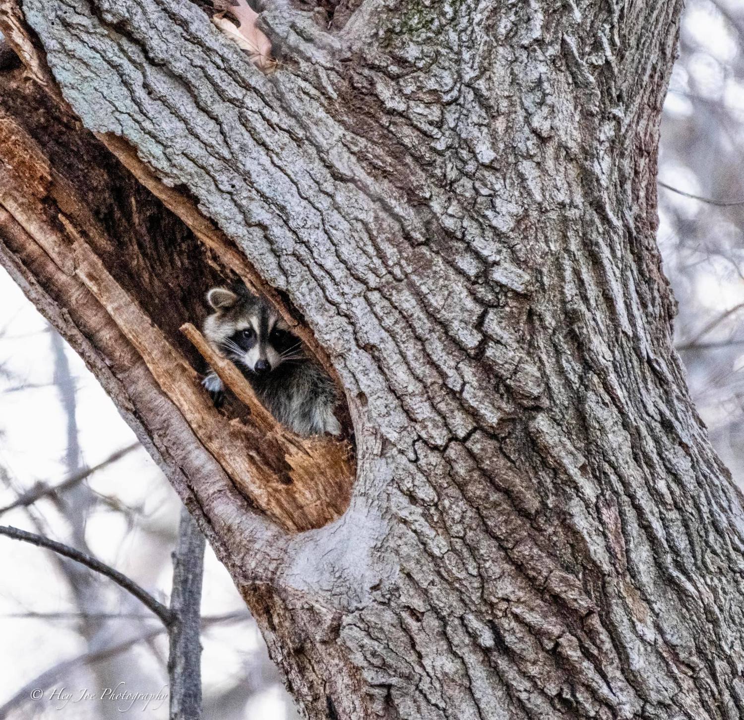
<path fill-rule="evenodd" d="M 1 260 L 311 718 L 744 712 L 742 505 L 654 237 L 682 2 L 272 6 L 269 75 L 185 0 L 2 7 Z M 179 327 L 232 273 L 337 373 L 352 488 L 199 394 Z"/>

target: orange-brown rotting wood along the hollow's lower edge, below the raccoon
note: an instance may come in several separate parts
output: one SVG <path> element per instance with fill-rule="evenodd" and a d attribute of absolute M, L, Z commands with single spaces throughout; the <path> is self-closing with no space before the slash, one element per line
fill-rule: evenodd
<path fill-rule="evenodd" d="M 241 492 L 292 532 L 322 527 L 338 518 L 347 507 L 353 480 L 350 444 L 297 437 L 272 422 L 263 406 L 255 402 L 251 408 L 254 425 L 220 414 L 187 359 L 116 282 L 93 250 L 88 238 L 94 245 L 106 244 L 100 237 L 103 230 L 74 188 L 50 166 L 13 118 L 4 115 L 0 115 L 0 146 L 4 172 L 0 205 L 64 274 L 81 280 L 106 309 L 161 390 Z M 192 328 L 190 339 L 196 335 Z M 208 349 L 200 349 L 208 354 Z M 214 357 L 208 360 L 217 361 Z M 224 367 L 221 372 L 226 374 Z M 234 378 L 228 384 L 246 397 L 245 388 Z"/>

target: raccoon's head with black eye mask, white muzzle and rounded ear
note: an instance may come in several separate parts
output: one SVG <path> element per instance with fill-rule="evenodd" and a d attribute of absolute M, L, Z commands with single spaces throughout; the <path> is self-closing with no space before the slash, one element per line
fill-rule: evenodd
<path fill-rule="evenodd" d="M 265 375 L 283 362 L 304 359 L 300 339 L 263 298 L 218 287 L 207 293 L 207 302 L 215 312 L 204 333 L 235 364 Z"/>

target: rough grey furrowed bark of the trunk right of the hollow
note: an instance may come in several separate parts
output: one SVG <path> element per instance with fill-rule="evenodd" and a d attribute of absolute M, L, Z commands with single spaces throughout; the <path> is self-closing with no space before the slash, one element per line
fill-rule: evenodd
<path fill-rule="evenodd" d="M 83 120 L 190 187 L 349 390 L 350 510 L 243 576 L 312 716 L 741 709 L 740 498 L 652 237 L 679 3 L 388 0 L 372 36 L 365 0 L 316 50 L 274 16 L 271 79 L 176 0 L 43 4 Z"/>

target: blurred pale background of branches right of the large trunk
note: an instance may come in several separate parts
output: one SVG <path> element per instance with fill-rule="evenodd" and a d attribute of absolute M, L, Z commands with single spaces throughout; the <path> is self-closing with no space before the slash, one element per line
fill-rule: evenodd
<path fill-rule="evenodd" d="M 744 488 L 743 46 L 741 0 L 687 2 L 661 124 L 658 245 L 690 391 Z"/>

